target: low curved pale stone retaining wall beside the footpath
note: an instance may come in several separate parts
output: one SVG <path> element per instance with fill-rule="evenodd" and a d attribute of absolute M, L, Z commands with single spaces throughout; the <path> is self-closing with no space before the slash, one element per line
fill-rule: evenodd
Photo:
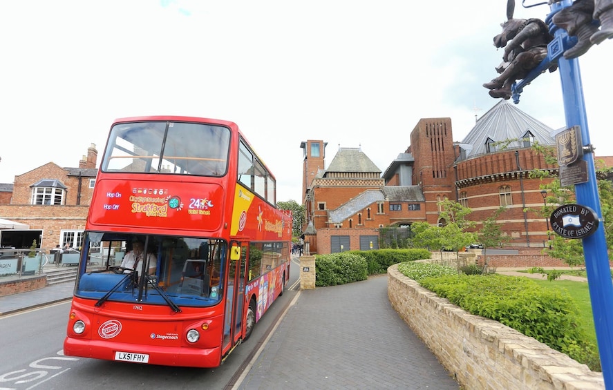
<path fill-rule="evenodd" d="M 393 308 L 466 389 L 604 389 L 602 373 L 388 268 Z"/>

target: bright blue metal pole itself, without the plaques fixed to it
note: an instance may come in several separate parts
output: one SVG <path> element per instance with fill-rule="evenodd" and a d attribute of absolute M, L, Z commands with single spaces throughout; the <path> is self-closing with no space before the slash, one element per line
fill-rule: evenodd
<path fill-rule="evenodd" d="M 571 0 L 554 3 L 551 5 L 551 13 L 554 14 L 571 5 Z M 567 33 L 565 30 L 558 28 L 554 35 L 562 37 Z M 601 220 L 596 233 L 583 238 L 583 255 L 605 387 L 613 389 L 613 282 L 611 280 L 601 204 L 596 183 L 594 155 L 591 150 L 590 132 L 587 127 L 587 114 L 585 112 L 585 101 L 583 100 L 583 86 L 578 59 L 567 60 L 560 57 L 558 71 L 562 82 L 567 128 L 576 125 L 581 127 L 581 137 L 586 150 L 586 153 L 583 154 L 583 160 L 587 164 L 587 183 L 575 185 L 577 203 L 592 208 Z"/>

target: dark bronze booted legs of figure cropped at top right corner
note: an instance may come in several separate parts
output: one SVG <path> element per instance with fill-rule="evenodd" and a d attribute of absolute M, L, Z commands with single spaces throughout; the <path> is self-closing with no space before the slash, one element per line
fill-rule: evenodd
<path fill-rule="evenodd" d="M 549 3 L 558 1 L 549 0 Z M 578 39 L 575 46 L 564 52 L 564 58 L 579 57 L 592 45 L 613 37 L 613 0 L 576 0 L 572 6 L 554 14 L 553 21 Z"/>

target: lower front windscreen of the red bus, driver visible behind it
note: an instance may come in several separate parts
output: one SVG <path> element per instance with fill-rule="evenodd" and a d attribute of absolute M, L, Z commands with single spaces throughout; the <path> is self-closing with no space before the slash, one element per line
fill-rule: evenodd
<path fill-rule="evenodd" d="M 223 293 L 223 240 L 88 232 L 75 295 L 106 301 L 212 306 Z"/>

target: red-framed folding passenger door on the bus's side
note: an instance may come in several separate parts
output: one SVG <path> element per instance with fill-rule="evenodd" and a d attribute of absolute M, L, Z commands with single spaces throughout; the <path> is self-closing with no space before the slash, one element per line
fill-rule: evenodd
<path fill-rule="evenodd" d="M 228 288 L 225 301 L 223 354 L 243 337 L 245 319 L 245 277 L 247 275 L 248 242 L 232 242 L 228 266 Z"/>

